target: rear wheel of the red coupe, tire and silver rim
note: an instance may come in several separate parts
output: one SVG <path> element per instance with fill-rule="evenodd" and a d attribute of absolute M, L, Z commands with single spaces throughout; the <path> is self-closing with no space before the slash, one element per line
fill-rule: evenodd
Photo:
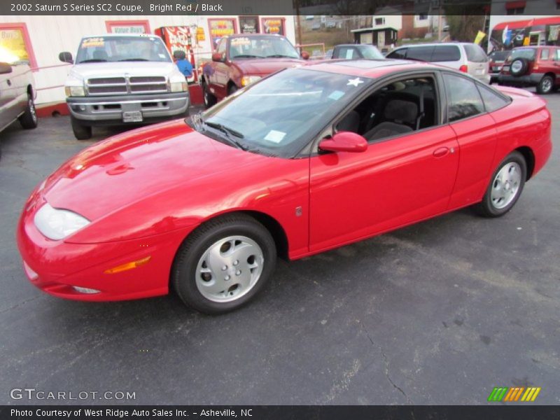
<path fill-rule="evenodd" d="M 515 151 L 498 165 L 492 174 L 486 193 L 477 206 L 485 217 L 500 217 L 515 205 L 527 178 L 527 164 L 521 153 Z"/>

